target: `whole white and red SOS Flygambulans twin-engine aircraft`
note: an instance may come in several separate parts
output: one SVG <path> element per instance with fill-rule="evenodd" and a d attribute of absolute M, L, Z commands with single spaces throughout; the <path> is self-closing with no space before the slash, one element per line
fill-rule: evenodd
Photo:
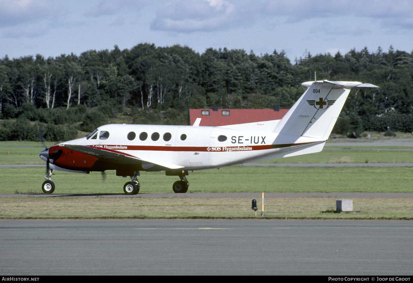
<path fill-rule="evenodd" d="M 44 193 L 52 193 L 52 170 L 75 173 L 116 170 L 130 176 L 127 195 L 139 192 L 139 171 L 166 171 L 179 176 L 175 193 L 188 190 L 188 171 L 320 152 L 351 88 L 378 88 L 356 81 L 310 81 L 306 92 L 281 120 L 219 127 L 112 124 L 84 138 L 40 152 L 46 162 Z"/>

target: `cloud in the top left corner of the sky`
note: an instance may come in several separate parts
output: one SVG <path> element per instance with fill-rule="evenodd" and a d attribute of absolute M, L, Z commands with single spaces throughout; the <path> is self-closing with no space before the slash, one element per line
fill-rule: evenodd
<path fill-rule="evenodd" d="M 0 27 L 46 19 L 56 13 L 49 0 L 1 0 Z"/>

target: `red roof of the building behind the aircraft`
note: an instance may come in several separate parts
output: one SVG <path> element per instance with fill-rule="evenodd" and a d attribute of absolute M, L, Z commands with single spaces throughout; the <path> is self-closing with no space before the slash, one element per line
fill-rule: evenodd
<path fill-rule="evenodd" d="M 189 109 L 190 125 L 193 125 L 197 118 L 201 118 L 199 126 L 225 126 L 234 124 L 244 124 L 260 121 L 279 120 L 289 109 Z M 209 111 L 209 115 L 202 115 L 202 111 Z M 223 111 L 229 111 L 229 115 L 223 115 Z M 224 112 L 225 113 L 225 112 Z M 228 114 L 228 112 L 226 112 Z"/>

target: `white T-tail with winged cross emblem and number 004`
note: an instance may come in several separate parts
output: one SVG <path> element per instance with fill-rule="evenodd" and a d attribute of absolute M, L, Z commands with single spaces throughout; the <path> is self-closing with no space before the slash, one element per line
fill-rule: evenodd
<path fill-rule="evenodd" d="M 309 81 L 306 92 L 274 129 L 275 133 L 327 140 L 351 88 L 378 86 L 357 81 Z"/>

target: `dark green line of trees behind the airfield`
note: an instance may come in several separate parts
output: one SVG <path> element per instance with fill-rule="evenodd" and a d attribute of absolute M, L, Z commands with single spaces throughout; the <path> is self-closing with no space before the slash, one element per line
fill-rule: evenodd
<path fill-rule="evenodd" d="M 364 48 L 334 56 L 313 56 L 306 51 L 293 63 L 284 51 L 255 55 L 253 51 L 208 48 L 199 54 L 188 46 L 149 43 L 130 50 L 115 45 L 110 51 L 89 50 L 79 56 L 47 59 L 42 55 L 5 56 L 0 60 L 0 118 L 23 115 L 31 121 L 56 124 L 53 117 L 62 117 L 71 108 L 81 110 L 76 119 L 70 114 L 76 111 L 67 114 L 69 121 L 84 120 L 94 107 L 100 107 L 103 116 L 126 107 L 134 109 L 135 120 L 140 122 L 154 111 L 179 114 L 213 105 L 289 108 L 305 90 L 301 83 L 314 80 L 315 74 L 317 79 L 380 86 L 351 91 L 337 133 L 385 131 L 387 127 L 413 131 L 413 53 L 392 46 L 387 52 L 380 47 L 375 52 Z"/>

